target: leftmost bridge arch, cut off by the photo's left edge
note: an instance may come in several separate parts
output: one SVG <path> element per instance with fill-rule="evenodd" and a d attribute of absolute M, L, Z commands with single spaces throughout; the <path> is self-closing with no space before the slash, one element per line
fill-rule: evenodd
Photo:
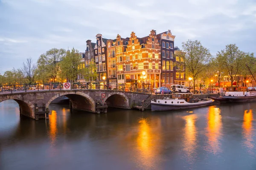
<path fill-rule="evenodd" d="M 23 101 L 21 99 L 18 99 L 17 96 L 6 96 L 4 99 L 0 99 L 0 102 L 10 100 L 10 99 L 13 99 L 15 100 L 15 102 L 18 103 L 21 114 L 28 116 L 32 119 L 35 119 L 35 105 L 32 104 L 32 102 L 29 102 L 27 100 Z"/>

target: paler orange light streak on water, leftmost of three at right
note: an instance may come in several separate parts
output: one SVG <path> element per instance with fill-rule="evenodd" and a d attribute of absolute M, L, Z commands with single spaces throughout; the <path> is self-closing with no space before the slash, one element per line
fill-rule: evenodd
<path fill-rule="evenodd" d="M 183 119 L 186 121 L 184 127 L 184 139 L 183 139 L 183 150 L 185 151 L 187 161 L 192 164 L 196 160 L 196 148 L 198 145 L 197 140 L 197 128 L 195 122 L 197 116 L 195 114 L 183 116 Z"/>

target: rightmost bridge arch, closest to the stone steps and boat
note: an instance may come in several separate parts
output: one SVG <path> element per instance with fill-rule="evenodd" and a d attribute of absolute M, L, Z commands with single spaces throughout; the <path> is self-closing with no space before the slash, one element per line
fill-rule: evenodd
<path fill-rule="evenodd" d="M 129 98 L 122 92 L 108 94 L 103 102 L 106 102 L 109 107 L 130 109 Z"/>

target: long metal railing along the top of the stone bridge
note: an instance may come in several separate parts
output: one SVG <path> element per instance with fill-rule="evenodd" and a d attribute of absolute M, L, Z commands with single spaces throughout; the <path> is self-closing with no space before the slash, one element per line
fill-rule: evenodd
<path fill-rule="evenodd" d="M 151 94 L 152 90 L 145 87 L 132 86 L 128 84 L 116 83 L 99 83 L 99 82 L 70 82 L 71 89 L 97 89 L 97 90 L 117 90 L 117 91 L 131 91 L 137 93 Z M 42 82 L 42 83 L 24 83 L 24 84 L 9 84 L 0 85 L 0 93 L 16 92 L 16 91 L 51 91 L 63 90 L 63 83 L 60 82 Z"/>

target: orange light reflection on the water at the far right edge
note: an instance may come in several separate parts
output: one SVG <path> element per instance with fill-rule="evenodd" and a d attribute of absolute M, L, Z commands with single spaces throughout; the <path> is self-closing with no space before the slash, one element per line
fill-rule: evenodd
<path fill-rule="evenodd" d="M 244 111 L 244 122 L 243 122 L 243 138 L 245 139 L 243 144 L 248 149 L 249 154 L 254 154 L 254 140 L 253 140 L 253 110 L 245 110 Z"/>

